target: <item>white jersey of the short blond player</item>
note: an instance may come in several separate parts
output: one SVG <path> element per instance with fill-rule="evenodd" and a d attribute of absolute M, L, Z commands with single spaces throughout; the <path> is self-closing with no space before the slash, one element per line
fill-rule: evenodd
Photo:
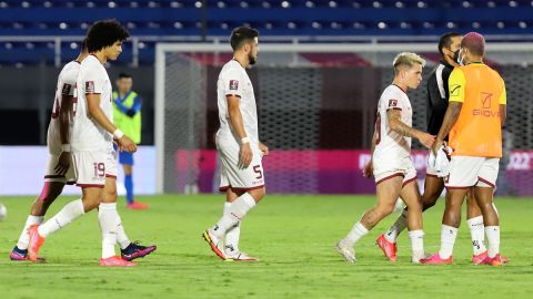
<path fill-rule="evenodd" d="M 411 155 L 411 137 L 402 136 L 391 130 L 386 117 L 389 110 L 400 110 L 402 123 L 409 126 L 413 123 L 413 111 L 408 95 L 399 86 L 389 85 L 381 94 L 378 104 L 375 122 L 378 140 L 372 156 L 374 168 L 376 165 L 396 167 L 403 158 Z"/>

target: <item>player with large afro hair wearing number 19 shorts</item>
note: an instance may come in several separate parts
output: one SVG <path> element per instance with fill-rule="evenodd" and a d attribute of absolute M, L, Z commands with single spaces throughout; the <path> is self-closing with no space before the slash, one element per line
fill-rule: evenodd
<path fill-rule="evenodd" d="M 95 22 L 89 30 L 86 40 L 90 55 L 81 63 L 77 78 L 78 104 L 71 133 L 77 185 L 82 188 L 82 197 L 66 205 L 44 224 L 30 226 L 28 254 L 32 261 L 37 260 L 39 249 L 49 234 L 99 207 L 102 230 L 100 265 L 137 265 L 129 261 L 131 256 L 121 258 L 114 255 L 114 244 L 121 243 L 118 236 L 125 235 L 117 213 L 117 161 L 112 138 L 114 136 L 123 151 L 135 152 L 137 146 L 112 123 L 111 82 L 103 68 L 108 59 L 115 60 L 122 52 L 122 42 L 128 37 L 128 32 L 115 20 Z M 154 249 L 151 248 L 151 251 Z"/>

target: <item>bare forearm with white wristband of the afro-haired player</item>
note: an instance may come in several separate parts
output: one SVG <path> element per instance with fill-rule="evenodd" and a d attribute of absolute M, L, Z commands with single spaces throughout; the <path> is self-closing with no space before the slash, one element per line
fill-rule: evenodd
<path fill-rule="evenodd" d="M 86 94 L 89 115 L 105 131 L 112 134 L 119 142 L 121 148 L 129 153 L 137 151 L 137 145 L 128 136 L 125 136 L 114 124 L 108 118 L 105 113 L 100 107 L 100 94 L 88 93 Z"/>

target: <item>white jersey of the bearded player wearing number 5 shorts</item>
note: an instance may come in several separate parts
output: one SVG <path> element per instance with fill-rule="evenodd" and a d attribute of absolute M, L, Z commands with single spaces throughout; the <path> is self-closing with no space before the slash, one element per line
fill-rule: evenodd
<path fill-rule="evenodd" d="M 217 83 L 217 96 L 219 104 L 220 128 L 217 137 L 222 140 L 234 140 L 240 142 L 235 132 L 231 127 L 230 115 L 228 113 L 227 95 L 237 95 L 241 99 L 240 110 L 244 131 L 251 143 L 259 143 L 258 130 L 258 109 L 255 105 L 255 96 L 253 86 L 247 71 L 237 60 L 225 63 L 220 71 L 219 81 Z"/>

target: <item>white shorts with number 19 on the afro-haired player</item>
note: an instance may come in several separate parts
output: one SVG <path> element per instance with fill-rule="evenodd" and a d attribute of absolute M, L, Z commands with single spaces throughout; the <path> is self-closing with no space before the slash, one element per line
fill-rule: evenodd
<path fill-rule="evenodd" d="M 74 152 L 72 157 L 79 187 L 103 188 L 105 177 L 117 178 L 115 152 Z"/>

